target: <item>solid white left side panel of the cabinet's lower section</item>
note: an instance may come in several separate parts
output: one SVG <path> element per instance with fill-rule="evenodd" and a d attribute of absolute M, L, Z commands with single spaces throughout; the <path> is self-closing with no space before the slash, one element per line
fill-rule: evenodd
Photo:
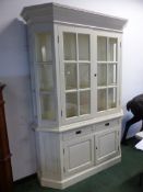
<path fill-rule="evenodd" d="M 40 150 L 40 177 L 60 180 L 60 142 L 58 134 L 38 133 Z M 40 179 L 41 179 L 40 178 Z"/>

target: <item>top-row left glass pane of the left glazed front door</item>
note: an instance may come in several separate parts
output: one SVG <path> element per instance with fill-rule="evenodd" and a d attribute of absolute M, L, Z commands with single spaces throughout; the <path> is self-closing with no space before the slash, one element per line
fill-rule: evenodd
<path fill-rule="evenodd" d="M 76 60 L 76 34 L 63 33 L 64 60 Z"/>

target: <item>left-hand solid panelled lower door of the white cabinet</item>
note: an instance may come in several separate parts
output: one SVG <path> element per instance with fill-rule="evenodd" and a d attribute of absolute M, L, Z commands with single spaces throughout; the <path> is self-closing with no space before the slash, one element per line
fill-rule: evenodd
<path fill-rule="evenodd" d="M 64 143 L 65 176 L 83 171 L 94 165 L 94 136 L 84 136 Z"/>

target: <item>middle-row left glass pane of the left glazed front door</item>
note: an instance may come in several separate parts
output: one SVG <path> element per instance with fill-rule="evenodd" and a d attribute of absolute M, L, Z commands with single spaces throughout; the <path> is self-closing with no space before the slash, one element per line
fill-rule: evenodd
<path fill-rule="evenodd" d="M 65 89 L 76 89 L 76 64 L 64 64 Z"/>

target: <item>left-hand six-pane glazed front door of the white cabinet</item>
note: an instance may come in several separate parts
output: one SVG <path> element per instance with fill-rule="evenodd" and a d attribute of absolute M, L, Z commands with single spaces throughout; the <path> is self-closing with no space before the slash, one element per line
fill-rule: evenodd
<path fill-rule="evenodd" d="M 96 42 L 93 30 L 59 26 L 62 123 L 93 117 Z M 96 47 L 96 46 L 95 46 Z"/>

